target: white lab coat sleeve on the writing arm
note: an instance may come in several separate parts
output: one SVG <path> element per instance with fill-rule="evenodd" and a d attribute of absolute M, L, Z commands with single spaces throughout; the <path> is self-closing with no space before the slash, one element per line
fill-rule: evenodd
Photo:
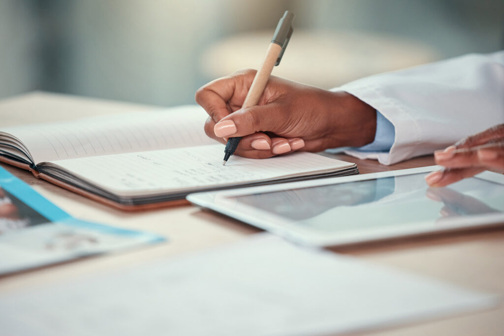
<path fill-rule="evenodd" d="M 388 153 L 346 151 L 389 165 L 504 123 L 504 51 L 469 54 L 343 85 L 395 126 Z"/>

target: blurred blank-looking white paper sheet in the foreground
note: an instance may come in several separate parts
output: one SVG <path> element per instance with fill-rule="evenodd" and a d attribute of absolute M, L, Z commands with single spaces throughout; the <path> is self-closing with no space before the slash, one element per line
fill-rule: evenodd
<path fill-rule="evenodd" d="M 8 335 L 319 335 L 489 307 L 467 291 L 259 234 L 0 297 Z"/>

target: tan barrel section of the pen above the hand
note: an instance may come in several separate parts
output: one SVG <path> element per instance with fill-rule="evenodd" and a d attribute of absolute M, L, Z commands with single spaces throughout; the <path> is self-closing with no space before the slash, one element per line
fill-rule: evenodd
<path fill-rule="evenodd" d="M 263 95 L 264 88 L 270 79 L 273 67 L 278 59 L 278 56 L 282 52 L 282 47 L 276 43 L 271 43 L 264 57 L 263 63 L 261 64 L 254 81 L 248 90 L 247 96 L 241 108 L 256 106 L 259 103 L 259 99 Z"/>

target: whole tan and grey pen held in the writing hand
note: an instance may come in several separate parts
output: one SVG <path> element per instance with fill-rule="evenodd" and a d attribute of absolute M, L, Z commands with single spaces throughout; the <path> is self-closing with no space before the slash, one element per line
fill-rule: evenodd
<path fill-rule="evenodd" d="M 273 67 L 280 64 L 280 60 L 285 52 L 285 48 L 287 47 L 287 43 L 289 43 L 293 31 L 293 20 L 294 14 L 292 12 L 285 11 L 283 17 L 278 22 L 277 29 L 275 29 L 275 34 L 273 34 L 273 38 L 271 39 L 271 43 L 268 47 L 263 63 L 257 71 L 252 85 L 250 85 L 250 89 L 248 90 L 247 96 L 245 97 L 241 108 L 256 106 L 259 102 L 264 88 L 266 87 L 266 83 L 268 83 L 268 80 L 270 79 Z M 225 165 L 227 160 L 229 160 L 231 155 L 233 155 L 240 139 L 241 137 L 229 138 L 226 148 L 224 149 L 224 162 L 222 165 Z"/>

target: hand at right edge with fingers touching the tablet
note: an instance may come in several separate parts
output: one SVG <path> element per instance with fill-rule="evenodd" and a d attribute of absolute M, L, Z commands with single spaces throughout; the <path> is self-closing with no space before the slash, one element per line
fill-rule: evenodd
<path fill-rule="evenodd" d="M 436 164 L 448 169 L 425 176 L 430 186 L 442 187 L 484 170 L 504 171 L 504 124 L 462 139 L 434 152 Z"/>

